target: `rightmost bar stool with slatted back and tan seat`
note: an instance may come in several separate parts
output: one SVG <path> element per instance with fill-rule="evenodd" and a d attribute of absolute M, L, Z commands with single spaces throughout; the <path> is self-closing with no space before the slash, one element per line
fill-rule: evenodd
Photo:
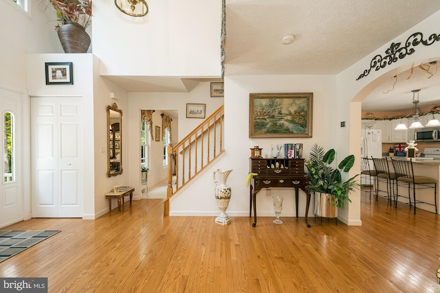
<path fill-rule="evenodd" d="M 408 187 L 408 199 L 411 205 L 410 191 L 412 189 L 412 199 L 414 200 L 414 213 L 416 209 L 416 203 L 430 204 L 435 207 L 435 213 L 437 213 L 437 180 L 433 178 L 429 178 L 426 176 L 415 176 L 414 169 L 412 168 L 412 159 L 409 160 L 397 160 L 391 159 L 393 162 L 394 172 L 397 176 L 397 184 L 396 184 L 396 204 L 397 207 L 397 198 L 400 196 L 398 193 L 399 186 Z M 430 202 L 423 202 L 421 200 L 416 200 L 415 190 L 416 189 L 434 189 L 434 204 Z M 406 198 L 406 196 L 401 196 Z"/>

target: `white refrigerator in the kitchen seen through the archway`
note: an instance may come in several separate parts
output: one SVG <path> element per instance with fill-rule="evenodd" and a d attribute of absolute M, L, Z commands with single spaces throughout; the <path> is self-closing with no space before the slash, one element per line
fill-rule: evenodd
<path fill-rule="evenodd" d="M 360 144 L 360 155 L 362 158 L 369 158 L 370 169 L 374 169 L 373 158 L 382 158 L 382 130 L 362 129 L 362 139 Z M 361 176 L 361 184 L 366 185 L 368 180 Z"/>

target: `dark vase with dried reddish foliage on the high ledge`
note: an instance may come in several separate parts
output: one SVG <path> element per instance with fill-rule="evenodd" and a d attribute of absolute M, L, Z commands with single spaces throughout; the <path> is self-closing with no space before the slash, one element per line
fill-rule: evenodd
<path fill-rule="evenodd" d="M 85 29 L 91 24 L 91 0 L 46 0 L 56 10 L 58 31 L 65 53 L 86 53 L 91 39 Z"/>

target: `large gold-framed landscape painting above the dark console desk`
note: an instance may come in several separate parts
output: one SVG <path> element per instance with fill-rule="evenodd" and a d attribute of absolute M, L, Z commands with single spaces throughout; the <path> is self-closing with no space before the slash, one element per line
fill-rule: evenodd
<path fill-rule="evenodd" d="M 313 93 L 250 93 L 249 137 L 311 137 Z"/>

